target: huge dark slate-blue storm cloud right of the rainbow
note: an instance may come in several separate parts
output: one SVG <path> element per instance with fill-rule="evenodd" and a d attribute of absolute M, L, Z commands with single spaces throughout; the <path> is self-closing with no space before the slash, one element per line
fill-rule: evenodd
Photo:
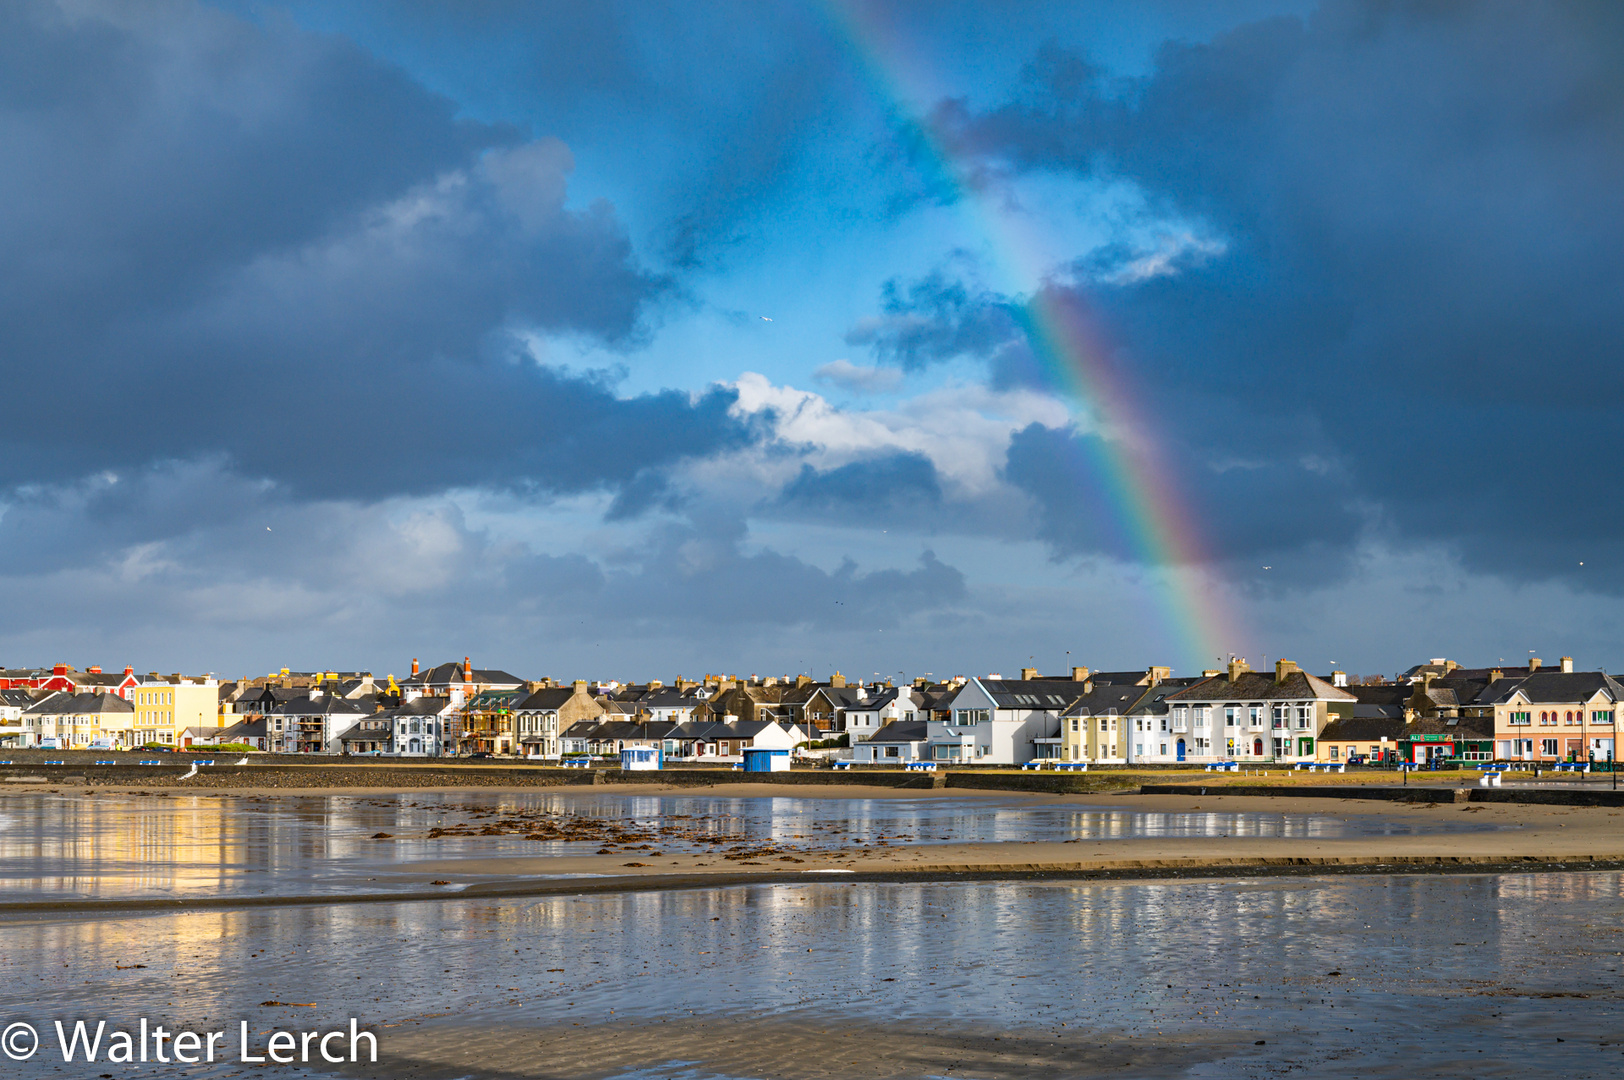
<path fill-rule="evenodd" d="M 1078 266 L 1197 461 L 1333 460 L 1403 536 L 1619 588 L 1624 512 L 1575 487 L 1624 464 L 1619 55 L 1614 6 L 1328 3 L 1168 44 L 1145 78 L 1047 50 L 1020 99 L 937 120 L 1221 240 Z"/>

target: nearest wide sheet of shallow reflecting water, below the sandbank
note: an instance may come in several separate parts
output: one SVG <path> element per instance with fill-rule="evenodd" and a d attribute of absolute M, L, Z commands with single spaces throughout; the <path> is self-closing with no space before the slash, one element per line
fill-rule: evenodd
<path fill-rule="evenodd" d="M 192 1028 L 351 1015 L 383 1033 L 963 1017 L 1009 1030 L 1242 1033 L 1304 1075 L 1494 1075 L 1510 1062 L 1523 1075 L 1614 1075 L 1621 900 L 1624 877 L 1598 872 L 809 882 L 32 916 L 0 922 L 0 971 L 41 1015 Z"/>

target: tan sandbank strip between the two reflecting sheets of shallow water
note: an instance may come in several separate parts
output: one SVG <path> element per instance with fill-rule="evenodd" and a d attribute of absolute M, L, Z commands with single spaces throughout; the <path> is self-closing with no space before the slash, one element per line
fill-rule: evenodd
<path fill-rule="evenodd" d="M 593 794 L 693 796 L 692 788 L 654 784 L 594 786 Z M 73 789 L 63 789 L 73 794 Z M 106 797 L 97 789 L 94 797 Z M 153 794 L 130 791 L 128 794 Z M 174 793 L 205 799 L 281 799 L 289 791 L 263 793 Z M 325 797 L 333 789 L 313 791 Z M 377 797 L 361 789 L 354 797 Z M 489 791 L 482 791 L 489 794 Z M 570 793 L 560 793 L 570 794 Z M 1304 872 L 1413 874 L 1427 870 L 1488 872 L 1541 867 L 1613 869 L 1624 867 L 1624 809 L 1567 807 L 1536 804 L 1403 804 L 1366 799 L 1324 799 L 1291 796 L 1186 796 L 1137 793 L 1020 794 L 973 789 L 913 789 L 840 784 L 804 786 L 716 784 L 708 797 L 763 799 L 781 796 L 796 801 L 908 799 L 935 801 L 997 799 L 1015 806 L 1060 806 L 1090 810 L 1236 815 L 1237 835 L 1205 836 L 1124 836 L 1082 840 L 1026 840 L 963 843 L 952 838 L 809 835 L 801 843 L 788 840 L 729 838 L 711 849 L 663 851 L 659 838 L 627 846 L 604 841 L 594 853 L 580 845 L 581 854 L 482 856 L 464 846 L 458 854 L 408 859 L 391 867 L 388 892 L 344 895 L 279 896 L 184 896 L 135 900 L 54 900 L 0 903 L 3 911 L 101 911 L 101 909 L 187 909 L 252 908 L 333 903 L 398 903 L 403 900 L 450 900 L 473 896 L 542 896 L 560 893 L 648 892 L 661 888 L 706 888 L 749 882 L 784 880 L 986 880 L 986 879 L 1073 879 L 1134 880 L 1168 877 L 1236 877 Z M 145 799 L 143 799 L 145 802 Z M 490 812 L 484 812 L 490 814 Z M 1260 836 L 1244 835 L 1250 814 L 1294 814 L 1317 819 L 1376 819 L 1408 823 L 1400 835 L 1350 836 Z M 1476 828 L 1458 830 L 1470 820 Z M 500 822 L 497 822 L 500 823 Z M 1440 828 L 1455 825 L 1455 828 Z M 447 832 L 460 840 L 479 835 L 523 835 L 533 825 L 497 830 L 495 825 L 468 822 Z M 479 830 L 489 830 L 481 833 Z M 380 833 L 377 843 L 432 841 L 435 833 Z M 797 841 L 801 838 L 796 838 Z M 931 840 L 931 843 L 919 843 Z M 477 843 L 477 840 L 474 841 Z M 676 846 L 676 845 L 667 845 Z"/>

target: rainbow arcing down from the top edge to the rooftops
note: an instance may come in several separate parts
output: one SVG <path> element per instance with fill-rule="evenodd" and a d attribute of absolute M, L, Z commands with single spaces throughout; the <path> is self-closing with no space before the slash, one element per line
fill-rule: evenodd
<path fill-rule="evenodd" d="M 880 5 L 823 0 L 831 36 L 844 45 L 883 107 L 900 110 L 921 135 L 927 179 L 957 195 L 955 205 L 986 237 L 997 270 L 1018 292 L 1044 281 L 1049 266 L 1036 237 L 1015 216 L 1000 214 L 991 197 L 970 182 L 974 167 L 955 156 L 952 143 L 921 106 L 940 101 L 945 88 L 916 63 L 919 52 L 898 41 Z M 1197 669 L 1241 651 L 1247 640 L 1223 603 L 1221 588 L 1203 573 L 1210 562 L 1202 531 L 1177 477 L 1140 408 L 1140 395 L 1109 361 L 1098 320 L 1067 289 L 1038 287 L 1021 315 L 1033 356 L 1051 385 L 1093 416 L 1101 438 L 1083 442 L 1078 469 L 1109 494 L 1116 521 L 1135 555 L 1147 564 L 1166 645 Z"/>

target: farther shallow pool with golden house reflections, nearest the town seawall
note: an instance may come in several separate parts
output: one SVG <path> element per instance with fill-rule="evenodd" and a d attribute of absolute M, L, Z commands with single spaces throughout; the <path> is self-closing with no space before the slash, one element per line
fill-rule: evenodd
<path fill-rule="evenodd" d="M 343 895 L 416 887 L 424 859 L 586 854 L 598 841 L 521 835 L 429 838 L 479 814 L 554 812 L 680 825 L 666 851 L 705 851 L 697 833 L 773 840 L 786 849 L 1028 840 L 1405 836 L 1492 828 L 1335 814 L 1138 812 L 996 797 L 802 799 L 703 794 L 403 793 L 367 796 L 0 797 L 0 900 L 190 895 Z M 523 830 L 518 830 L 521 833 Z M 387 840 L 375 840 L 388 833 Z"/>

